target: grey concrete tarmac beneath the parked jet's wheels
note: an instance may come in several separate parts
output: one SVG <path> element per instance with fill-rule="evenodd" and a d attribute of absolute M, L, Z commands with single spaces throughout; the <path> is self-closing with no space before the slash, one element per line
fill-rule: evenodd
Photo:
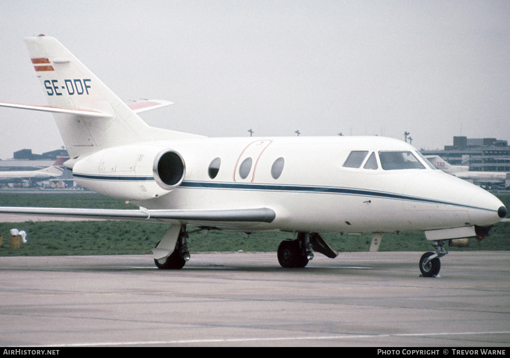
<path fill-rule="evenodd" d="M 1 257 L 0 345 L 508 347 L 510 252 L 450 252 L 433 278 L 421 254 Z"/>

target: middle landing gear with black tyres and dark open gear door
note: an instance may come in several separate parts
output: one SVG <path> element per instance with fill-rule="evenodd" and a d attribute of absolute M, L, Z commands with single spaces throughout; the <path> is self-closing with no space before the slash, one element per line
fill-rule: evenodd
<path fill-rule="evenodd" d="M 303 268 L 314 258 L 312 248 L 334 259 L 338 253 L 318 233 L 299 233 L 295 240 L 284 240 L 278 246 L 278 262 L 284 268 Z"/>

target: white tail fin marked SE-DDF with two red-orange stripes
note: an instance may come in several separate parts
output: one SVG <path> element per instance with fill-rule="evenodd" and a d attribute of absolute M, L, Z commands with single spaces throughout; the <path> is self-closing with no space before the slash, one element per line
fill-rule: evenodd
<path fill-rule="evenodd" d="M 25 38 L 48 106 L 71 158 L 141 141 L 198 137 L 148 126 L 53 37 Z"/>

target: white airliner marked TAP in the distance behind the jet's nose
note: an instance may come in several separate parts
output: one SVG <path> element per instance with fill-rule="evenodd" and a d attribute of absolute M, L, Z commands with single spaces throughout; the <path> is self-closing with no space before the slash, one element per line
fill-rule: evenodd
<path fill-rule="evenodd" d="M 503 188 L 510 187 L 510 173 L 500 171 L 469 171 L 467 165 L 451 165 L 440 156 L 426 156 L 436 168 L 445 173 L 481 186 L 498 185 Z"/>

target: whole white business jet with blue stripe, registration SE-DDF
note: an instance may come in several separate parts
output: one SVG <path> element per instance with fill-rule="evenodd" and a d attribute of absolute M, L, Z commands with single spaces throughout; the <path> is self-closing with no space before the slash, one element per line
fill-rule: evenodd
<path fill-rule="evenodd" d="M 313 250 L 337 255 L 320 232 L 425 231 L 436 248 L 420 260 L 435 276 L 449 239 L 486 236 L 503 203 L 436 170 L 411 145 L 381 137 L 206 138 L 148 126 L 55 38 L 25 39 L 70 155 L 65 166 L 93 191 L 139 210 L 1 208 L 3 213 L 143 220 L 172 226 L 153 250 L 161 269 L 189 260 L 186 225 L 295 233 L 277 257 L 304 267 Z M 136 106 L 135 106 L 136 107 Z"/>

